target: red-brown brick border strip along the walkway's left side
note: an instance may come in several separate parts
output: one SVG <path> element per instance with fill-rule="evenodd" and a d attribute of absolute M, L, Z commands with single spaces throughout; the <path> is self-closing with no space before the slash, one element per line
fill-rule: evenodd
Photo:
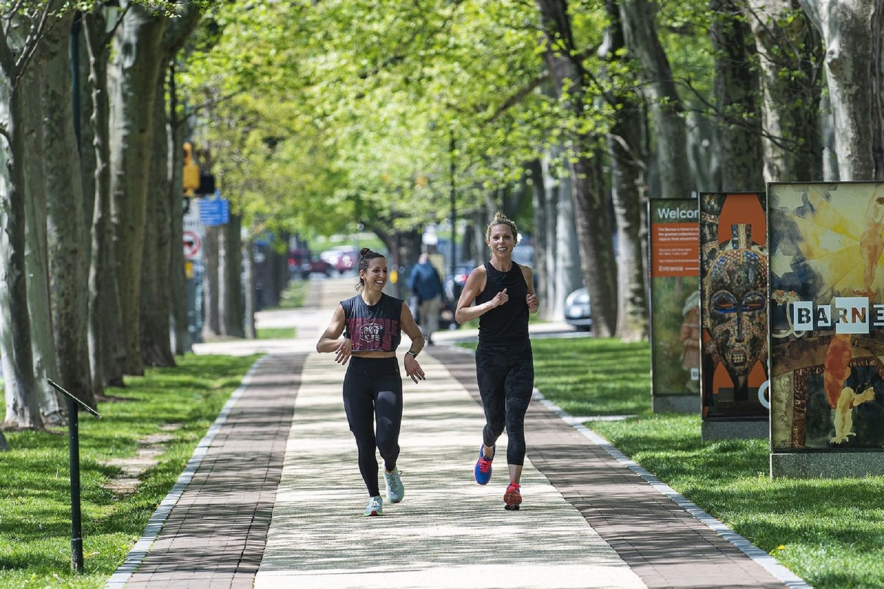
<path fill-rule="evenodd" d="M 257 367 L 127 589 L 254 585 L 306 358 Z"/>

